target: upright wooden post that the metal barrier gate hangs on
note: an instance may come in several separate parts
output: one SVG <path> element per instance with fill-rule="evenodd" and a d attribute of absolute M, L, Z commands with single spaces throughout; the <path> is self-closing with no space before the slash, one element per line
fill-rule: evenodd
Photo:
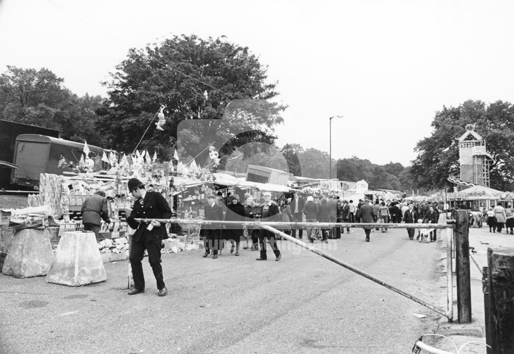
<path fill-rule="evenodd" d="M 468 212 L 455 213 L 455 274 L 457 275 L 457 319 L 471 323 L 471 277 L 469 270 Z"/>

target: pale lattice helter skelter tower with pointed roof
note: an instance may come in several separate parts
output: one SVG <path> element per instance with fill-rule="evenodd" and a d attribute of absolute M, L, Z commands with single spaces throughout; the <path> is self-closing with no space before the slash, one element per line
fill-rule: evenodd
<path fill-rule="evenodd" d="M 473 130 L 473 125 L 466 125 L 466 132 L 458 138 L 458 157 L 461 165 L 460 176 L 450 176 L 448 180 L 458 187 L 468 188 L 473 185 L 489 187 L 489 166 L 492 157 L 486 151 L 486 142 Z"/>

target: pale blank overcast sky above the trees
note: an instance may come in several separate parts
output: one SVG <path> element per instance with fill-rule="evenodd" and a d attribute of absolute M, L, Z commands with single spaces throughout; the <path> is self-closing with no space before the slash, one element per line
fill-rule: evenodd
<path fill-rule="evenodd" d="M 172 34 L 226 35 L 268 65 L 289 108 L 279 146 L 300 143 L 409 165 L 443 105 L 514 102 L 511 1 L 0 0 L 0 71 L 46 67 L 76 94 L 129 48 Z M 108 146 L 105 146 L 108 147 Z"/>

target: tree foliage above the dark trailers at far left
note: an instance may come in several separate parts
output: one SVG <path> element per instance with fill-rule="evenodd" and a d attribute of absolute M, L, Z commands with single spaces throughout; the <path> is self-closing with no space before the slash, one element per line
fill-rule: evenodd
<path fill-rule="evenodd" d="M 8 66 L 0 75 L 0 115 L 13 122 L 57 129 L 64 139 L 98 145 L 95 109 L 100 96 L 78 97 L 49 69 Z"/>

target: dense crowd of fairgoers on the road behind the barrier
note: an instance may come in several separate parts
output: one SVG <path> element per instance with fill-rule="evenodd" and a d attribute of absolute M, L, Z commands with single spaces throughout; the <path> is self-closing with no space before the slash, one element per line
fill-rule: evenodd
<path fill-rule="evenodd" d="M 412 203 L 408 201 L 386 201 L 376 198 L 374 202 L 369 199 L 353 200 L 340 199 L 338 196 L 328 195 L 300 195 L 296 192 L 290 197 L 281 195 L 271 200 L 271 193 L 265 192 L 256 198 L 245 193 L 244 200 L 237 194 L 229 194 L 225 200 L 221 194 L 210 194 L 206 197 L 205 219 L 226 221 L 250 221 L 252 219 L 266 219 L 270 221 L 288 222 L 346 222 L 346 223 L 437 223 L 443 204 L 432 202 Z M 306 227 L 291 228 L 289 225 L 278 225 L 277 229 L 292 236 L 314 243 L 320 239 L 328 243 L 328 238 L 341 238 L 344 229 L 350 233 L 350 228 L 333 227 Z M 364 227 L 365 241 L 370 241 L 372 231 L 388 232 L 387 227 Z M 260 250 L 257 260 L 267 259 L 266 240 L 269 240 L 276 259 L 281 258 L 276 242 L 276 235 L 251 226 L 209 226 L 203 228 L 205 242 L 204 257 L 212 253 L 215 259 L 227 242 L 231 244 L 230 253 L 238 256 L 241 241 L 243 249 Z M 420 230 L 416 238 L 420 237 Z M 415 229 L 407 229 L 409 239 L 414 239 Z M 429 230 L 430 241 L 437 239 L 436 229 Z"/>

